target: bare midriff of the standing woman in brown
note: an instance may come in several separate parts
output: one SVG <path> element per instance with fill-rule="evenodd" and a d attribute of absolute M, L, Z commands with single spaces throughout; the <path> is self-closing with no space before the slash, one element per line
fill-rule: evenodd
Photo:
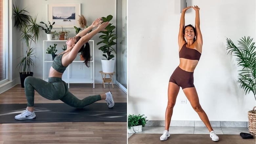
<path fill-rule="evenodd" d="M 197 64 L 198 64 L 198 60 L 180 58 L 179 67 L 184 71 L 194 72 Z"/>

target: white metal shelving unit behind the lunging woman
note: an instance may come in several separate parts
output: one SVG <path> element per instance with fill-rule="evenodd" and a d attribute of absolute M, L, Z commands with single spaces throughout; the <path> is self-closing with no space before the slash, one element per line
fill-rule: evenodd
<path fill-rule="evenodd" d="M 61 53 L 64 48 L 63 45 L 66 45 L 67 40 L 44 40 L 43 41 L 43 80 L 48 81 L 49 71 L 53 64 L 52 55 L 46 53 L 46 49 L 53 46 L 53 44 L 57 44 L 56 54 Z M 95 79 L 94 79 L 94 40 L 90 40 L 88 42 L 90 44 L 90 53 L 91 53 L 91 61 L 90 68 L 87 68 L 83 61 L 80 60 L 80 56 L 78 53 L 77 57 L 71 63 L 66 71 L 62 75 L 62 80 L 68 84 L 70 83 L 91 83 L 93 84 L 93 88 L 95 88 Z M 80 69 L 81 68 L 81 69 Z"/>

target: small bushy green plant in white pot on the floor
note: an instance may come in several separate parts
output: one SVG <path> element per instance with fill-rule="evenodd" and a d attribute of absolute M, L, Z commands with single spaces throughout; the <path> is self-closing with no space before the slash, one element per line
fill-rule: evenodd
<path fill-rule="evenodd" d="M 142 115 L 128 115 L 128 133 L 142 132 L 142 127 L 145 127 L 148 119 L 144 114 Z"/>

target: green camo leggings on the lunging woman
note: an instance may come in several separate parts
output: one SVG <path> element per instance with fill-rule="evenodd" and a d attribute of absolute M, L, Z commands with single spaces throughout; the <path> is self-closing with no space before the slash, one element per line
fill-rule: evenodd
<path fill-rule="evenodd" d="M 34 90 L 44 98 L 49 100 L 59 99 L 77 109 L 83 108 L 101 99 L 100 95 L 88 96 L 82 100 L 78 99 L 69 92 L 68 85 L 58 77 L 49 77 L 48 82 L 46 82 L 40 78 L 28 76 L 24 81 L 24 87 L 28 107 L 34 106 Z"/>

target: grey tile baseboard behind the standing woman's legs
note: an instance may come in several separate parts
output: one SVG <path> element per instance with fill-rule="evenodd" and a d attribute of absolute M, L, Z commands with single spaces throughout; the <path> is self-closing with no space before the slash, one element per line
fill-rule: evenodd
<path fill-rule="evenodd" d="M 210 121 L 212 127 L 248 127 L 247 121 Z M 149 120 L 146 126 L 165 126 L 164 120 Z M 170 126 L 173 127 L 205 127 L 202 121 L 192 120 L 172 120 Z"/>

